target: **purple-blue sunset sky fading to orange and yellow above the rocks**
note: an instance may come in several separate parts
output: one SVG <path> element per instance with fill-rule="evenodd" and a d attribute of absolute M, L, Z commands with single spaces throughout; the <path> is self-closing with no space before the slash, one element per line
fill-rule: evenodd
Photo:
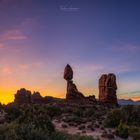
<path fill-rule="evenodd" d="M 0 102 L 23 87 L 65 97 L 67 63 L 85 95 L 111 72 L 119 98 L 140 99 L 140 1 L 0 0 Z"/>

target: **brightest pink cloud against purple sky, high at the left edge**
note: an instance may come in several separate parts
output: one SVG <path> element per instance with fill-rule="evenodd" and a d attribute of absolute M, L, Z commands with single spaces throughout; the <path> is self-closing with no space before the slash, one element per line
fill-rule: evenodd
<path fill-rule="evenodd" d="M 1 41 L 7 40 L 25 40 L 28 39 L 26 35 L 24 35 L 20 30 L 10 30 L 5 32 L 3 35 L 0 36 Z"/>

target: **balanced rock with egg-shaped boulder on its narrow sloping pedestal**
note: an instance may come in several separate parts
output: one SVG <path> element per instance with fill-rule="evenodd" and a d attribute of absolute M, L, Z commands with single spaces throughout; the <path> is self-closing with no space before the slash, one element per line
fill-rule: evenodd
<path fill-rule="evenodd" d="M 64 79 L 67 81 L 67 101 L 84 100 L 84 95 L 78 91 L 76 85 L 73 83 L 73 70 L 69 64 L 66 65 L 64 70 Z"/>

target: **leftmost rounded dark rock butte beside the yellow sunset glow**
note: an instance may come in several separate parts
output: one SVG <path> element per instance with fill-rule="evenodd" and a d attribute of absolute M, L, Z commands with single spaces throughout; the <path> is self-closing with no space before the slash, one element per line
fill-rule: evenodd
<path fill-rule="evenodd" d="M 14 102 L 18 105 L 31 103 L 31 91 L 21 88 L 15 94 Z"/>

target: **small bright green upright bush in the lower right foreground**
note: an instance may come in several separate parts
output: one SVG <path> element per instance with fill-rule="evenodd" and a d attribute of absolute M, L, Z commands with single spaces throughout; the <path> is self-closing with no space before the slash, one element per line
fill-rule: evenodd
<path fill-rule="evenodd" d="M 127 127 L 127 125 L 123 124 L 122 121 L 116 128 L 116 134 L 121 138 L 128 138 L 128 136 L 129 136 L 128 127 Z"/>

